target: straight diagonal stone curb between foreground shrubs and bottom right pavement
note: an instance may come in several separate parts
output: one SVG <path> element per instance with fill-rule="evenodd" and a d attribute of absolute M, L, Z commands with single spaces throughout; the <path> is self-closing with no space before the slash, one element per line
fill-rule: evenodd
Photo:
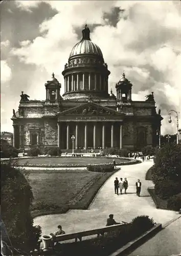
<path fill-rule="evenodd" d="M 134 250 L 138 246 L 142 245 L 144 242 L 146 242 L 149 238 L 151 238 L 153 235 L 158 233 L 162 230 L 162 224 L 156 224 L 154 227 L 149 229 L 147 232 L 145 232 L 141 237 L 127 243 L 117 251 L 109 254 L 109 256 L 123 256 L 127 255 L 131 250 Z"/>

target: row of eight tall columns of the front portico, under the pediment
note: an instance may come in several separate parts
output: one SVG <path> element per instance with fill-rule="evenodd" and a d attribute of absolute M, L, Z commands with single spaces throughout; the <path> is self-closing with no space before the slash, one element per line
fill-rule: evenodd
<path fill-rule="evenodd" d="M 93 128 L 93 145 L 94 149 L 96 148 L 96 123 L 94 123 Z M 60 123 L 58 123 L 58 147 L 61 148 L 60 141 L 61 127 Z M 78 149 L 78 123 L 76 123 L 75 129 L 75 148 Z M 66 149 L 69 150 L 70 145 L 70 124 L 66 124 Z M 84 147 L 87 149 L 87 123 L 84 126 Z M 114 147 L 114 123 L 111 124 L 111 147 Z M 105 148 L 105 124 L 102 125 L 102 148 Z M 122 124 L 120 124 L 120 148 L 122 148 Z"/>

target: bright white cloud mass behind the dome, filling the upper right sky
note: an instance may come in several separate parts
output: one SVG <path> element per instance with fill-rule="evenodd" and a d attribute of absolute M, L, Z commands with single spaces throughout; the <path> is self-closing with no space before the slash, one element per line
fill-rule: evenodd
<path fill-rule="evenodd" d="M 40 35 L 32 42 L 20 42 L 11 54 L 25 64 L 36 65 L 38 80 L 54 72 L 63 84 L 61 71 L 73 46 L 80 40 L 78 34 L 85 20 L 93 27 L 90 37 L 101 48 L 111 72 L 109 89 L 115 93 L 115 84 L 123 70 L 133 84 L 133 99 L 144 100 L 154 92 L 158 108 L 167 117 L 170 108 L 179 108 L 181 70 L 181 13 L 180 1 L 41 1 L 58 14 L 44 20 L 39 26 Z M 40 1 L 17 1 L 20 9 L 31 11 Z M 116 25 L 110 17 L 117 8 Z M 105 18 L 105 13 L 106 17 Z M 37 86 L 37 76 L 31 88 Z M 63 87 L 63 86 L 62 86 Z M 44 97 L 44 88 L 41 87 Z M 63 93 L 63 89 L 61 93 Z M 163 121 L 163 133 L 170 126 Z"/>

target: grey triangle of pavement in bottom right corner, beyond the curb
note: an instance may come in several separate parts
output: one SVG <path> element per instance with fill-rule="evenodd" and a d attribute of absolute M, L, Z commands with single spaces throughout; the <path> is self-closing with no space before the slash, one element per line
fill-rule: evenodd
<path fill-rule="evenodd" d="M 180 216 L 181 217 L 181 216 Z M 181 218 L 172 222 L 129 255 L 181 255 Z"/>

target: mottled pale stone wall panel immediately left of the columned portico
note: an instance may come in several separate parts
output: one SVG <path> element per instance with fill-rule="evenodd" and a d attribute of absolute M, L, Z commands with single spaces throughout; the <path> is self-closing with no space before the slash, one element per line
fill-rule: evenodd
<path fill-rule="evenodd" d="M 58 126 L 57 120 L 44 122 L 44 145 L 57 146 L 58 143 Z"/>

